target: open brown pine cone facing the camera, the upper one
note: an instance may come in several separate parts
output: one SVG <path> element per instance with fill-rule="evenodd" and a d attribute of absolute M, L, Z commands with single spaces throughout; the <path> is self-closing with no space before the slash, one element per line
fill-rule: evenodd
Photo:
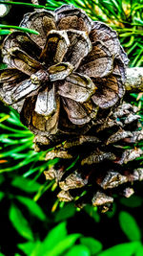
<path fill-rule="evenodd" d="M 0 71 L 1 100 L 47 143 L 86 132 L 98 109 L 125 92 L 128 58 L 116 33 L 69 5 L 27 13 L 20 25 L 39 35 L 15 31 L 6 37 L 9 68 Z"/>

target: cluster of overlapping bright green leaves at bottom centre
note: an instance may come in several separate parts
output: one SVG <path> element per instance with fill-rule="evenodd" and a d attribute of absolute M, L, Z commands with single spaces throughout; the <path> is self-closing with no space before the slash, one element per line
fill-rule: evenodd
<path fill-rule="evenodd" d="M 78 244 L 75 244 L 77 240 Z M 93 238 L 81 237 L 81 234 L 68 235 L 66 222 L 61 222 L 51 229 L 43 241 L 29 241 L 24 244 L 18 244 L 18 247 L 26 255 L 32 256 L 92 256 L 102 249 L 102 244 Z"/>

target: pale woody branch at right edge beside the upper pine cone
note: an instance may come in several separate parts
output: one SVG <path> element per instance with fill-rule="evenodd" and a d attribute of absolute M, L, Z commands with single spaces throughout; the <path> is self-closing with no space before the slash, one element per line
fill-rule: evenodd
<path fill-rule="evenodd" d="M 125 81 L 127 92 L 143 92 L 143 67 L 127 68 Z"/>

